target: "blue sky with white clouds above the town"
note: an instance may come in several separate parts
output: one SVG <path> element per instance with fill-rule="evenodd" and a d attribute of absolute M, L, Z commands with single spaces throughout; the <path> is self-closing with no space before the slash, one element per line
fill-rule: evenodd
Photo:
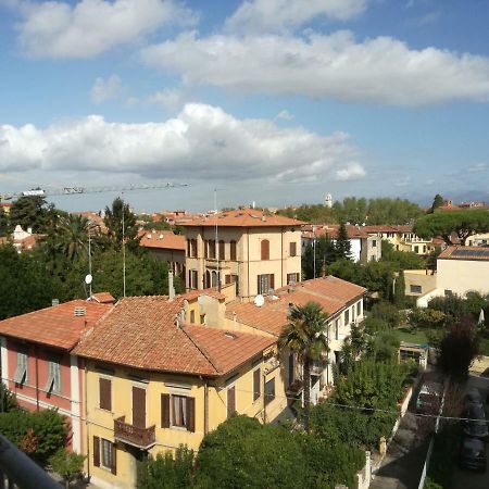
<path fill-rule="evenodd" d="M 487 0 L 0 0 L 0 195 L 489 200 L 488 24 Z"/>

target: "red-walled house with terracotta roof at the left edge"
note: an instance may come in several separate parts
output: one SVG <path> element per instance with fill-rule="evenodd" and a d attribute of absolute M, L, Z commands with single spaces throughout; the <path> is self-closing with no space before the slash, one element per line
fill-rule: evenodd
<path fill-rule="evenodd" d="M 83 452 L 83 369 L 72 349 L 112 304 L 75 300 L 0 322 L 1 376 L 21 406 L 55 408 L 71 426 L 71 448 Z"/>

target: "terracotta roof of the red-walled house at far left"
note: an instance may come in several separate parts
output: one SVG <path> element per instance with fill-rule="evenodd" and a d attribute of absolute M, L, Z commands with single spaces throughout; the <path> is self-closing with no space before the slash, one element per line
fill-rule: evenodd
<path fill-rule="evenodd" d="M 75 308 L 85 308 L 86 314 L 75 316 Z M 70 350 L 111 308 L 77 299 L 1 321 L 0 335 Z"/>

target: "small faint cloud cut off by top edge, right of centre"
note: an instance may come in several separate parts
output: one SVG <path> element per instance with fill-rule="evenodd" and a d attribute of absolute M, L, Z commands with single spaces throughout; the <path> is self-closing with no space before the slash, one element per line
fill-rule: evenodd
<path fill-rule="evenodd" d="M 229 32 L 276 32 L 298 27 L 314 17 L 346 21 L 365 10 L 366 0 L 247 0 L 226 21 Z"/>

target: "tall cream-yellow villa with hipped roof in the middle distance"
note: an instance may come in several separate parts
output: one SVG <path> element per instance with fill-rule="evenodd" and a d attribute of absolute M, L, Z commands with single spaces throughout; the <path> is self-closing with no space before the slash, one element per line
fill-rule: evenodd
<path fill-rule="evenodd" d="M 187 290 L 236 284 L 236 294 L 250 299 L 299 281 L 301 224 L 254 209 L 185 224 Z"/>

